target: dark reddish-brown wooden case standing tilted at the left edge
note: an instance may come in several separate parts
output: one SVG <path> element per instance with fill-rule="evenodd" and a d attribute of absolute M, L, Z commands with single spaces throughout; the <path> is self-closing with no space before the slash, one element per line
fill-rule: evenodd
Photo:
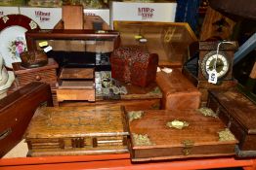
<path fill-rule="evenodd" d="M 42 83 L 24 85 L 0 100 L 0 156 L 21 141 L 30 119 L 40 105 L 53 106 L 50 86 Z"/>

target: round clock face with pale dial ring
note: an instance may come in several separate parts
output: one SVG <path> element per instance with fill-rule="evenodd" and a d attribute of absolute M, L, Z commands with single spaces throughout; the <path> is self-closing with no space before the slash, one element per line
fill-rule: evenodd
<path fill-rule="evenodd" d="M 217 79 L 225 77 L 229 72 L 230 63 L 225 52 L 219 51 L 217 56 L 216 51 L 210 51 L 203 57 L 201 61 L 203 76 L 208 79 L 210 72 L 214 69 L 217 72 Z"/>

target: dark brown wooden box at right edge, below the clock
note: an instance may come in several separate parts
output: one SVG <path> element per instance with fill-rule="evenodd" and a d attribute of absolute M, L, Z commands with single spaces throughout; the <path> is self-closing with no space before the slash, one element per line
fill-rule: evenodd
<path fill-rule="evenodd" d="M 215 111 L 239 141 L 238 156 L 256 156 L 256 104 L 236 89 L 210 90 L 207 107 Z"/>

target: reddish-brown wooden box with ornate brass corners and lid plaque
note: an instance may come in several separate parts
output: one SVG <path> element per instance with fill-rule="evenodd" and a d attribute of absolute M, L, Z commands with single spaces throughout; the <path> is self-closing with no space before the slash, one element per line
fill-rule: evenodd
<path fill-rule="evenodd" d="M 150 110 L 128 112 L 127 119 L 132 161 L 235 154 L 235 136 L 214 114 Z"/>

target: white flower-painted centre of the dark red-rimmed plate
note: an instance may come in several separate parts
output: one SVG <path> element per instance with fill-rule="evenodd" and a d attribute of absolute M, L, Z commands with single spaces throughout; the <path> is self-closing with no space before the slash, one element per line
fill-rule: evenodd
<path fill-rule="evenodd" d="M 13 62 L 21 62 L 20 53 L 27 51 L 24 37 L 26 31 L 26 28 L 14 25 L 0 32 L 0 54 L 6 67 L 13 68 Z"/>

